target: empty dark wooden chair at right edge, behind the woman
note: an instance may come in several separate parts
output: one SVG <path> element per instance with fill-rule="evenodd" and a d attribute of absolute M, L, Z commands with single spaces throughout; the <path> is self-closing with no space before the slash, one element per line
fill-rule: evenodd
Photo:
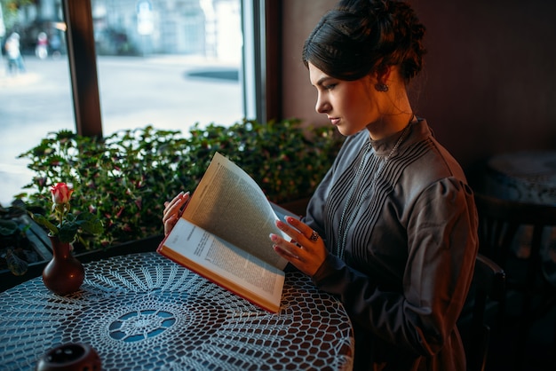
<path fill-rule="evenodd" d="M 521 370 L 530 326 L 556 304 L 556 286 L 547 279 L 541 256 L 544 229 L 556 226 L 556 205 L 502 200 L 479 193 L 475 194 L 475 203 L 479 213 L 479 251 L 499 264 L 507 275 L 501 320 L 507 314 L 508 295 L 521 297 L 514 363 Z M 523 233 L 524 228 L 528 228 L 528 233 Z M 528 241 L 523 241 L 524 237 Z M 518 243 L 528 244 L 528 257 L 517 257 L 518 238 Z M 554 339 L 556 342 L 556 328 Z"/>

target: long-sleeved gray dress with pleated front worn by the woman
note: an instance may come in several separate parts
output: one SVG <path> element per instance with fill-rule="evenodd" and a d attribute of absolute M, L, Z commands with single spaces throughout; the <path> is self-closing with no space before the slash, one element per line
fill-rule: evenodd
<path fill-rule="evenodd" d="M 465 370 L 456 323 L 478 249 L 473 191 L 425 120 L 385 162 L 400 137 L 346 138 L 304 218 L 330 251 L 314 284 L 349 312 L 356 369 Z"/>

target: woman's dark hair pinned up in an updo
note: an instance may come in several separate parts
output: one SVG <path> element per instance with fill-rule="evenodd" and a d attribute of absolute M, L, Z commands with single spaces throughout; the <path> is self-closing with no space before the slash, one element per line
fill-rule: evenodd
<path fill-rule="evenodd" d="M 342 0 L 319 21 L 303 47 L 303 62 L 326 75 L 357 80 L 381 67 L 401 68 L 406 83 L 423 67 L 423 26 L 408 4 Z"/>

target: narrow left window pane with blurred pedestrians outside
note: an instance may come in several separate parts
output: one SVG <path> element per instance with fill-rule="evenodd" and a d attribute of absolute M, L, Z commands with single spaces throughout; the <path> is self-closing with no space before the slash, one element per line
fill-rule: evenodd
<path fill-rule="evenodd" d="M 61 7 L 35 5 L 6 8 L 0 0 L 0 205 L 7 206 L 21 187 L 30 183 L 33 173 L 17 156 L 40 144 L 46 133 L 75 130 L 71 100 L 65 24 Z M 14 2 L 11 2 L 13 4 Z M 60 5 L 60 4 L 59 4 Z M 44 33 L 44 35 L 41 35 Z M 39 36 L 47 37 L 46 51 Z M 12 37 L 17 43 L 12 43 Z M 11 48 L 17 48 L 10 50 Z M 20 62 L 12 62 L 20 56 Z M 13 60 L 13 59 L 12 59 Z"/>

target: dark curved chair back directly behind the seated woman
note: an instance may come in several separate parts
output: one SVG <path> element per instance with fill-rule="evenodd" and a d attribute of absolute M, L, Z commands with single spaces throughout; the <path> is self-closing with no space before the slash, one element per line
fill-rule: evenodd
<path fill-rule="evenodd" d="M 489 304 L 499 304 L 503 300 L 504 292 L 504 270 L 488 257 L 478 254 L 465 310 L 458 320 L 469 371 L 485 369 L 490 340 L 487 312 Z"/>

